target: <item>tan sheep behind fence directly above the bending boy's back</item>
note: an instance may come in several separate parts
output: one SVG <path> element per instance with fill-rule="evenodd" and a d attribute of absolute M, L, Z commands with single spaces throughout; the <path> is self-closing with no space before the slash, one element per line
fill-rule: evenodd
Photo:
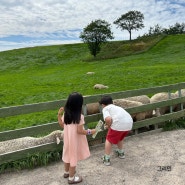
<path fill-rule="evenodd" d="M 120 106 L 124 109 L 131 108 L 131 107 L 138 107 L 138 106 L 143 105 L 143 103 L 141 103 L 141 102 L 130 101 L 130 100 L 126 100 L 126 99 L 115 99 L 115 100 L 113 100 L 113 104 Z M 133 113 L 133 114 L 131 114 L 131 116 L 134 121 L 140 121 L 140 120 L 145 119 L 146 113 L 145 112 Z"/>

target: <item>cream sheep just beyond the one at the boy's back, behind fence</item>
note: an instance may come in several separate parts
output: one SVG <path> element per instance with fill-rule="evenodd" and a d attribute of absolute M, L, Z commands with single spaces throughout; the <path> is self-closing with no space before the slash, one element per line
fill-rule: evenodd
<path fill-rule="evenodd" d="M 149 104 L 150 103 L 150 98 L 147 95 L 133 96 L 133 97 L 125 98 L 125 99 L 130 100 L 130 101 L 141 102 L 142 104 Z M 153 116 L 152 113 L 153 113 L 153 110 L 146 111 L 145 118 L 151 118 Z"/>

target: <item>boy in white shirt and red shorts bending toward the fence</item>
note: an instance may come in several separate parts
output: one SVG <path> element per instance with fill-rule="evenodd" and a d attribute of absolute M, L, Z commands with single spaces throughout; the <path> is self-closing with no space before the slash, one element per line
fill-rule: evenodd
<path fill-rule="evenodd" d="M 131 115 L 122 107 L 113 104 L 110 96 L 103 96 L 99 103 L 102 105 L 103 119 L 108 133 L 105 141 L 105 155 L 103 156 L 103 163 L 106 166 L 110 165 L 110 153 L 112 145 L 116 144 L 118 149 L 116 153 L 119 158 L 124 159 L 123 139 L 133 126 L 133 119 Z"/>

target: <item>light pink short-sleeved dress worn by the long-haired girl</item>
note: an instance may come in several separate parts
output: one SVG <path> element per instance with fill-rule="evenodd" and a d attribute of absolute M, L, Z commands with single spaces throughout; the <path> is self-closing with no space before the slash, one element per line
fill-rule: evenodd
<path fill-rule="evenodd" d="M 62 117 L 64 122 L 64 117 Z M 84 116 L 81 115 L 80 125 L 84 125 Z M 78 124 L 64 124 L 64 145 L 62 160 L 70 163 L 70 166 L 76 166 L 79 160 L 90 156 L 89 145 L 86 135 L 77 133 Z"/>

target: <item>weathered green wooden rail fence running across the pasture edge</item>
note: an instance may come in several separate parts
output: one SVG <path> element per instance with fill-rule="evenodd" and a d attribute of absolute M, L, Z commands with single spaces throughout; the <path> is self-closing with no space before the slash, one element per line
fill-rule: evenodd
<path fill-rule="evenodd" d="M 185 102 L 185 97 L 181 95 L 181 89 L 185 89 L 184 82 L 178 83 L 178 84 L 166 85 L 166 86 L 107 93 L 106 95 L 111 95 L 113 99 L 119 99 L 119 98 L 127 98 L 127 97 L 140 96 L 140 95 L 151 96 L 153 94 L 160 93 L 160 92 L 168 92 L 169 94 L 168 100 L 157 102 L 157 103 L 149 103 L 138 107 L 127 108 L 126 110 L 130 114 L 145 112 L 148 110 L 154 110 L 155 108 L 160 108 L 165 106 L 172 107 L 173 105 L 181 104 L 181 110 L 177 112 L 171 111 L 168 114 L 164 114 L 158 117 L 152 117 L 152 118 L 134 122 L 133 130 L 137 131 L 137 129 L 143 128 L 149 125 L 155 125 L 155 127 L 157 127 L 158 124 L 164 123 L 168 120 L 175 120 L 175 119 L 184 117 L 185 110 L 183 108 L 183 103 Z M 171 99 L 170 94 L 175 91 L 179 91 L 179 96 L 178 98 Z M 99 119 L 102 119 L 102 114 L 98 113 L 93 115 L 86 115 L 85 105 L 89 103 L 98 102 L 103 95 L 105 94 L 84 96 L 84 114 L 85 114 L 85 122 L 87 127 L 89 123 L 97 122 Z M 9 116 L 17 116 L 21 114 L 29 114 L 34 112 L 57 110 L 59 109 L 59 107 L 64 106 L 65 102 L 66 102 L 66 99 L 63 99 L 63 100 L 52 101 L 52 102 L 43 102 L 43 103 L 36 103 L 36 104 L 0 108 L 0 117 L 4 118 Z M 59 129 L 61 128 L 59 127 L 58 122 L 53 122 L 53 123 L 42 124 L 39 126 L 9 130 L 5 132 L 0 132 L 0 142 L 10 140 L 10 139 L 26 137 L 26 136 L 35 136 L 36 134 L 41 135 L 43 132 L 46 132 L 46 131 L 52 132 L 54 130 L 59 130 Z M 102 131 L 97 135 L 96 139 L 104 138 L 105 135 L 106 135 L 106 131 Z M 93 140 L 92 137 L 88 136 L 88 141 L 92 141 L 92 140 Z M 0 165 L 6 162 L 25 158 L 28 155 L 32 155 L 38 152 L 56 151 L 61 149 L 62 149 L 62 144 L 57 145 L 56 143 L 52 142 L 44 145 L 26 148 L 24 150 L 18 150 L 18 151 L 0 154 Z"/>

